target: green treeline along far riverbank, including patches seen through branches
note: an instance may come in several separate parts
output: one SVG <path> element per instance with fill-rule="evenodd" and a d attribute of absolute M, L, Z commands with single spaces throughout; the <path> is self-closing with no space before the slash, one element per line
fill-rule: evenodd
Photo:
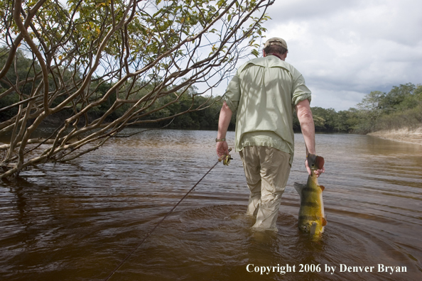
<path fill-rule="evenodd" d="M 0 65 L 4 64 L 5 57 L 0 57 Z M 19 77 L 26 77 L 28 73 L 33 72 L 32 60 L 26 58 L 23 53 L 18 51 L 18 60 L 16 68 L 18 70 Z M 32 67 L 32 68 L 31 68 Z M 36 67 L 35 67 L 36 68 Z M 10 71 L 6 77 L 9 81 L 16 80 L 16 74 Z M 102 97 L 104 93 L 114 84 L 111 82 L 105 82 L 97 80 L 92 82 L 91 87 L 96 88 L 95 98 Z M 31 92 L 31 84 L 27 84 L 21 89 L 21 92 L 25 94 Z M 145 92 L 149 91 L 149 88 L 154 87 L 153 84 L 144 84 Z M 50 82 L 50 88 L 54 88 L 55 84 Z M 0 94 L 6 92 L 9 88 L 9 84 L 6 84 L 4 80 L 0 82 Z M 141 95 L 141 94 L 140 94 Z M 65 96 L 59 97 L 53 103 L 60 103 L 65 100 Z M 100 104 L 95 107 L 94 110 L 87 114 L 88 121 L 103 116 L 104 113 L 109 110 L 110 106 L 116 101 L 116 95 L 111 95 L 108 102 Z M 144 123 L 144 128 L 187 128 L 187 129 L 199 129 L 199 130 L 217 130 L 218 118 L 220 109 L 222 106 L 222 97 L 202 97 L 198 94 L 195 86 L 191 86 L 181 96 L 177 103 L 169 104 L 173 98 L 170 96 L 164 96 L 155 102 L 151 106 L 150 111 L 153 113 L 145 117 L 151 123 Z M 7 94 L 5 97 L 0 99 L 0 109 L 6 106 L 11 106 L 19 101 L 18 94 Z M 154 121 L 157 119 L 166 119 L 168 116 L 174 116 L 183 111 L 188 111 L 190 108 L 196 108 L 201 104 L 207 104 L 204 109 L 200 111 L 188 112 L 186 114 L 176 116 L 173 121 L 167 119 L 163 121 Z M 127 105 L 129 106 L 129 105 Z M 127 107 L 126 106 L 126 107 Z M 163 109 L 155 111 L 163 106 Z M 125 106 L 121 106 L 120 109 L 114 111 L 112 114 L 107 116 L 109 121 L 117 119 L 124 114 L 126 111 Z M 315 123 L 315 131 L 318 132 L 347 132 L 347 133 L 360 133 L 366 134 L 380 130 L 391 130 L 395 128 L 416 128 L 422 124 L 422 85 L 414 85 L 411 83 L 401 84 L 394 86 L 390 92 L 379 92 L 374 91 L 367 94 L 362 101 L 357 104 L 357 108 L 350 108 L 345 111 L 335 111 L 335 109 L 323 109 L 321 107 L 311 107 L 313 112 L 313 119 Z M 4 111 L 0 111 L 0 122 L 7 121 L 11 117 L 18 113 L 18 106 L 11 107 Z M 43 122 L 43 126 L 60 126 L 61 123 L 74 112 L 72 109 L 65 109 L 48 116 Z M 81 119 L 81 123 L 85 123 L 84 119 Z M 235 114 L 229 125 L 229 130 L 234 130 Z M 296 114 L 293 118 L 293 129 L 294 131 L 301 131 L 299 121 Z"/>

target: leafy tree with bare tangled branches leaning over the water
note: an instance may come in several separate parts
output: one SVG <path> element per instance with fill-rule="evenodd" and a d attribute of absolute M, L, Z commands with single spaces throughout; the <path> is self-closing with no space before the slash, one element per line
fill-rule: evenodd
<path fill-rule="evenodd" d="M 10 143 L 0 145 L 0 177 L 75 159 L 127 126 L 210 106 L 211 98 L 198 105 L 195 97 L 212 92 L 258 47 L 273 2 L 1 1 L 0 134 Z M 158 114 L 198 84 L 188 109 Z M 50 138 L 33 138 L 60 116 Z"/>

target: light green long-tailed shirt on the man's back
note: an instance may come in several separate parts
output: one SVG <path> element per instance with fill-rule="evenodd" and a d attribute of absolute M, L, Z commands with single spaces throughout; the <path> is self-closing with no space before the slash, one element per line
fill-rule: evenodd
<path fill-rule="evenodd" d="M 224 100 L 237 111 L 235 149 L 270 146 L 291 155 L 293 162 L 293 110 L 310 101 L 305 79 L 293 65 L 274 55 L 249 60 L 229 82 Z"/>

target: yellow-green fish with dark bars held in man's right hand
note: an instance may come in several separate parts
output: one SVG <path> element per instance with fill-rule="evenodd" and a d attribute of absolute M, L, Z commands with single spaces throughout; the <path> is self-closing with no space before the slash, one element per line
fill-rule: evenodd
<path fill-rule="evenodd" d="M 316 157 L 320 158 L 320 156 Z M 310 169 L 312 171 L 317 170 L 318 166 L 313 165 Z M 327 224 L 323 203 L 323 191 L 325 187 L 318 184 L 318 177 L 313 172 L 312 175 L 308 176 L 308 182 L 306 184 L 295 182 L 294 187 L 301 196 L 298 221 L 299 229 L 303 232 L 310 233 L 311 236 L 319 236 L 320 233 L 324 232 L 324 226 Z"/>

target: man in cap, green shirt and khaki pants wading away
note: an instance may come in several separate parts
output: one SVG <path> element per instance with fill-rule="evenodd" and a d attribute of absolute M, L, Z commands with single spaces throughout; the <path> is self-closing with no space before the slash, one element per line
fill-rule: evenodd
<path fill-rule="evenodd" d="M 249 60 L 229 82 L 220 111 L 217 155 L 229 154 L 225 140 L 232 113 L 237 111 L 235 148 L 242 158 L 250 190 L 247 214 L 256 215 L 252 228 L 277 231 L 276 221 L 293 162 L 293 109 L 305 138 L 306 155 L 316 154 L 310 90 L 296 68 L 288 64 L 286 41 L 271 38 L 264 57 Z M 310 175 L 308 160 L 305 167 Z M 315 171 L 319 176 L 325 168 Z"/>

